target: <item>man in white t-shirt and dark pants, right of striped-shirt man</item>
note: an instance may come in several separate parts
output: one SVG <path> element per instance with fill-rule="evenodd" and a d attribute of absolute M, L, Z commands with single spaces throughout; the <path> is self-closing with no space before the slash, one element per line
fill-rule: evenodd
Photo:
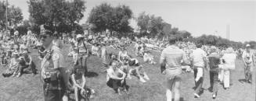
<path fill-rule="evenodd" d="M 197 49 L 192 53 L 192 64 L 195 77 L 194 96 L 199 98 L 200 91 L 204 82 L 204 67 L 206 66 L 206 52 L 201 49 L 202 44 L 197 44 Z"/>

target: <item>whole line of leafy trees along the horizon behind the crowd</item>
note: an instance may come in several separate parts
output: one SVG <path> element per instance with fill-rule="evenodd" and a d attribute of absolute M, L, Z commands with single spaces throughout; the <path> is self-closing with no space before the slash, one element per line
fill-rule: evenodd
<path fill-rule="evenodd" d="M 201 44 L 215 45 L 218 47 L 243 47 L 244 44 L 251 44 L 256 48 L 255 41 L 245 43 L 235 42 L 216 37 L 213 35 L 202 35 L 192 37 L 192 34 L 186 30 L 178 30 L 171 27 L 170 23 L 164 22 L 160 16 L 139 13 L 139 16 L 133 16 L 132 9 L 127 5 L 112 6 L 106 2 L 96 5 L 92 8 L 85 22 L 86 28 L 79 24 L 85 16 L 86 9 L 84 0 L 29 0 L 28 2 L 30 17 L 23 20 L 21 9 L 14 5 L 6 5 L 0 2 L 0 28 L 4 29 L 6 24 L 6 7 L 8 7 L 9 26 L 12 25 L 20 33 L 27 33 L 27 28 L 31 28 L 34 33 L 39 33 L 39 26 L 45 24 L 50 30 L 59 33 L 70 33 L 77 30 L 77 33 L 84 33 L 84 30 L 90 30 L 90 33 L 116 33 L 118 36 L 137 36 L 149 38 L 154 37 L 163 39 L 165 37 L 175 37 L 179 41 L 191 41 Z M 138 28 L 132 28 L 130 22 L 135 19 Z M 20 26 L 17 26 L 20 25 Z"/>

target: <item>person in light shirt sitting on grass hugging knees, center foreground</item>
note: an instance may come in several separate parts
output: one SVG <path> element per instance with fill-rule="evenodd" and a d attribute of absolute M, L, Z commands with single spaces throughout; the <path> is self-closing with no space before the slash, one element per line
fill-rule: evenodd
<path fill-rule="evenodd" d="M 124 92 L 128 90 L 125 82 L 126 74 L 117 68 L 117 61 L 111 61 L 110 68 L 106 72 L 106 85 L 114 89 L 119 95 L 121 95 L 121 89 L 124 89 Z"/>

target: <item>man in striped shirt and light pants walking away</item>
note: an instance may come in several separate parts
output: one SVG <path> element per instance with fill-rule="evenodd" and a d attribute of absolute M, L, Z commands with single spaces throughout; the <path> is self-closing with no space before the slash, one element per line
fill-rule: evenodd
<path fill-rule="evenodd" d="M 160 69 L 163 75 L 166 75 L 167 101 L 171 101 L 172 93 L 175 91 L 175 101 L 179 100 L 179 89 L 182 74 L 182 61 L 189 63 L 184 51 L 175 46 L 175 37 L 169 39 L 169 46 L 166 47 L 160 56 Z"/>

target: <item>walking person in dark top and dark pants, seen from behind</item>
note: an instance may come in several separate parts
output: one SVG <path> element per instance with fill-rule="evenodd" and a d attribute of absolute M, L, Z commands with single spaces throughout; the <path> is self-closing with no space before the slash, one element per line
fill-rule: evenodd
<path fill-rule="evenodd" d="M 216 47 L 211 47 L 211 54 L 208 56 L 208 64 L 210 67 L 210 89 L 212 91 L 212 99 L 215 99 L 218 92 L 218 64 L 221 63 L 220 54 L 217 53 Z"/>

